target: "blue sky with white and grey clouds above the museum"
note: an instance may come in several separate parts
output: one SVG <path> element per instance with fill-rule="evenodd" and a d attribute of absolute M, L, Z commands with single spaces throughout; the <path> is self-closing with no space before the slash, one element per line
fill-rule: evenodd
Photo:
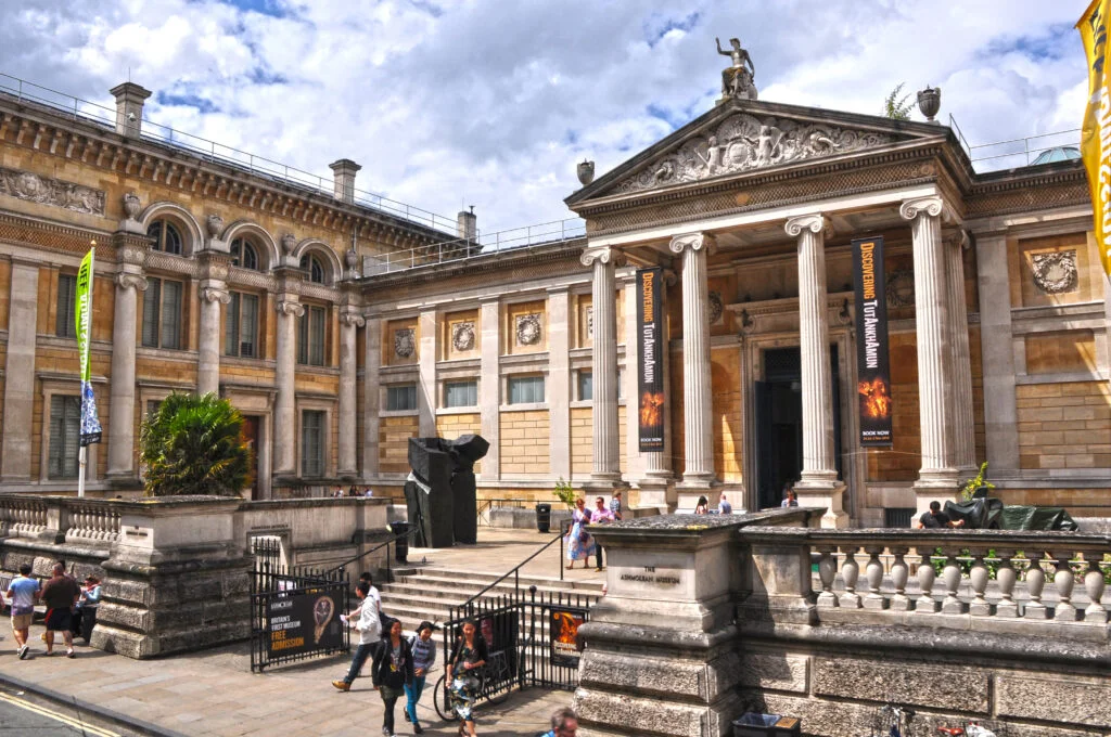
<path fill-rule="evenodd" d="M 0 0 L 0 72 L 111 105 L 130 70 L 151 120 L 326 178 L 353 159 L 359 189 L 491 232 L 571 216 L 577 161 L 708 111 L 715 37 L 762 100 L 878 114 L 933 84 L 972 144 L 1079 128 L 1087 1 Z"/>

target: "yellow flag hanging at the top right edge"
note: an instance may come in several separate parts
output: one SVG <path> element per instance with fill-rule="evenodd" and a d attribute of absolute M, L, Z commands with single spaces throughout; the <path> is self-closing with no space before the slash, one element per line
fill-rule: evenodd
<path fill-rule="evenodd" d="M 1111 69 L 1108 67 L 1108 18 L 1111 0 L 1092 0 L 1077 30 L 1088 57 L 1088 109 L 1080 134 L 1080 155 L 1095 211 L 1095 241 L 1103 272 L 1111 275 Z"/>

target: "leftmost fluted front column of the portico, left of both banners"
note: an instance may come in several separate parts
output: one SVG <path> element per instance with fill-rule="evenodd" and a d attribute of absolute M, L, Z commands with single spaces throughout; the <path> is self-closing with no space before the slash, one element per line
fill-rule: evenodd
<path fill-rule="evenodd" d="M 611 489 L 621 484 L 620 437 L 618 435 L 618 313 L 615 259 L 609 248 L 590 248 L 582 264 L 593 269 L 591 304 L 594 311 L 593 467 L 588 486 Z"/>

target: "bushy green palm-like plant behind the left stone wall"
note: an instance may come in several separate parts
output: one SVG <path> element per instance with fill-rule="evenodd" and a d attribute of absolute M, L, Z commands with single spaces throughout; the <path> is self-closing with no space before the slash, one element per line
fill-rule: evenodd
<path fill-rule="evenodd" d="M 147 495 L 238 495 L 251 463 L 242 428 L 242 415 L 216 394 L 171 394 L 140 431 Z"/>

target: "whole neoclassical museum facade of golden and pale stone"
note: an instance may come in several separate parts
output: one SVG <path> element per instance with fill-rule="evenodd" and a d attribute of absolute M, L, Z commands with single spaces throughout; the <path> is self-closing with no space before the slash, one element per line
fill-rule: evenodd
<path fill-rule="evenodd" d="M 939 124 L 730 99 L 571 194 L 584 236 L 493 251 L 469 213 L 446 232 L 361 204 L 351 161 L 323 193 L 147 135 L 149 92 L 113 94 L 114 125 L 0 94 L 0 491 L 76 491 L 96 241 L 91 495 L 137 493 L 142 416 L 200 391 L 247 418 L 259 498 L 400 496 L 408 438 L 480 433 L 486 499 L 564 478 L 757 508 L 791 482 L 829 525 L 905 524 L 987 461 L 1005 502 L 1111 516 L 1111 291 L 1079 161 L 978 174 Z M 879 236 L 891 442 L 865 447 L 851 243 Z"/>

